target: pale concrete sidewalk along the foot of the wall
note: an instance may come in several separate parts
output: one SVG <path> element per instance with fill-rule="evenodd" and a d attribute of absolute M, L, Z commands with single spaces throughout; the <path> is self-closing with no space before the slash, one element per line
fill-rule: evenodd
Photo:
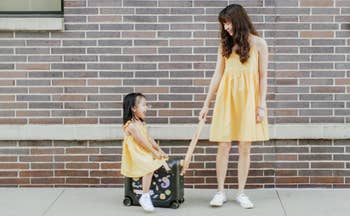
<path fill-rule="evenodd" d="M 245 210 L 233 199 L 212 208 L 215 190 L 186 189 L 179 209 L 157 208 L 147 215 L 252 215 L 252 216 L 348 216 L 350 190 L 258 189 L 247 190 L 255 204 Z M 122 188 L 1 188 L 1 216 L 128 216 L 145 215 L 141 207 L 122 204 Z"/>

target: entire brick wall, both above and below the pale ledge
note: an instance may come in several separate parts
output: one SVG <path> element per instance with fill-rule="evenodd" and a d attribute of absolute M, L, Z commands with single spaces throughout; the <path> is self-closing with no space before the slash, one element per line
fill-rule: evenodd
<path fill-rule="evenodd" d="M 196 123 L 229 3 L 246 7 L 269 45 L 270 124 L 350 122 L 349 0 L 66 0 L 64 32 L 0 32 L 0 124 L 120 124 L 132 91 L 152 105 L 149 124 Z M 47 140 L 1 141 L 0 185 L 122 185 L 120 140 Z M 161 140 L 171 155 L 187 144 Z M 196 149 L 187 187 L 215 186 L 212 144 Z M 348 187 L 349 146 L 256 143 L 248 186 Z"/>

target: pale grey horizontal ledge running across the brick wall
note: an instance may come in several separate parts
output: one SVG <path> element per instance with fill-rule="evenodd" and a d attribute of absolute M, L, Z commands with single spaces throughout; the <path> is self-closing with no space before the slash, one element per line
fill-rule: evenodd
<path fill-rule="evenodd" d="M 160 140 L 189 140 L 195 124 L 149 124 L 149 132 Z M 349 139 L 349 124 L 275 124 L 271 139 Z M 209 125 L 200 139 L 207 140 Z M 0 125 L 0 140 L 120 140 L 121 125 Z"/>

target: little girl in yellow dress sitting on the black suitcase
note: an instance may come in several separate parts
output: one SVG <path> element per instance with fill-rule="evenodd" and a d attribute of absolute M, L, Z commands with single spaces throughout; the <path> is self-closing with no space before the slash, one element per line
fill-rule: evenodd
<path fill-rule="evenodd" d="M 146 97 L 143 94 L 130 93 L 124 97 L 121 174 L 131 178 L 142 177 L 139 203 L 145 211 L 153 211 L 149 194 L 153 172 L 165 164 L 168 156 L 148 135 L 144 122 L 146 111 Z"/>

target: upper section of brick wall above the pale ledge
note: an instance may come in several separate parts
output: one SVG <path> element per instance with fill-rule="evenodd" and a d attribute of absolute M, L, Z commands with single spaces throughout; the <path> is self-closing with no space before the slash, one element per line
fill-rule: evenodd
<path fill-rule="evenodd" d="M 270 123 L 348 123 L 347 0 L 66 0 L 65 32 L 0 33 L 0 124 L 120 123 L 131 91 L 196 122 L 233 2 L 269 45 Z"/>

